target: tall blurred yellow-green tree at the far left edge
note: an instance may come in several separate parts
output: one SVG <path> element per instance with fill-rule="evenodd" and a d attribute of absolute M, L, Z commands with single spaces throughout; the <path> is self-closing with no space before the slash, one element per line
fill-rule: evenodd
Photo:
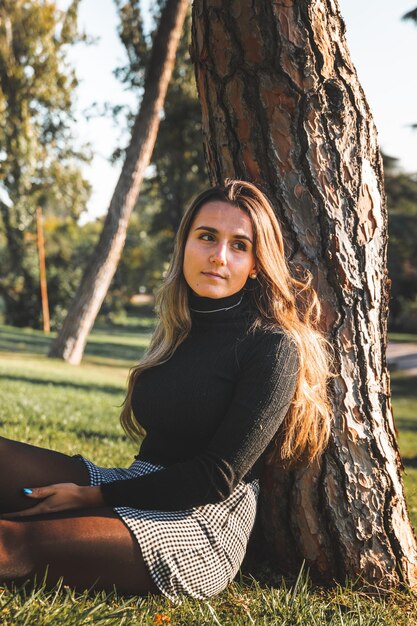
<path fill-rule="evenodd" d="M 17 326 L 36 326 L 41 315 L 36 206 L 77 218 L 90 193 L 80 170 L 89 154 L 69 131 L 77 79 L 67 53 L 85 41 L 78 4 L 0 4 L 0 296 L 5 321 Z"/>

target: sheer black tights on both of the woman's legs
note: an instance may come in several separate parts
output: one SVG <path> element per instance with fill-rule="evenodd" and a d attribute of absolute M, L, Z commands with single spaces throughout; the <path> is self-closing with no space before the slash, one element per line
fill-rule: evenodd
<path fill-rule="evenodd" d="M 80 459 L 0 437 L 0 514 L 33 506 L 24 487 L 88 485 Z M 77 589 L 158 593 L 137 541 L 113 509 L 0 520 L 0 583 L 59 578 Z"/>

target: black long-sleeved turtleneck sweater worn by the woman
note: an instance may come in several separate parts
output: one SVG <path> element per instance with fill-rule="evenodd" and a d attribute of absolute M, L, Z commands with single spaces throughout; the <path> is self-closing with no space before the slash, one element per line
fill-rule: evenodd
<path fill-rule="evenodd" d="M 189 301 L 190 335 L 166 363 L 139 376 L 132 396 L 147 431 L 138 458 L 164 469 L 102 485 L 110 506 L 183 510 L 227 498 L 240 480 L 259 477 L 262 453 L 293 398 L 295 344 L 278 327 L 248 332 L 248 292 L 190 293 Z"/>

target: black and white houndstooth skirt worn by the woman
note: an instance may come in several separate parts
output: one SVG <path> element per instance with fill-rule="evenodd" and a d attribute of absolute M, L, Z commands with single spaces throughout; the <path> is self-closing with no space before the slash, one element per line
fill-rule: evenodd
<path fill-rule="evenodd" d="M 87 465 L 92 486 L 163 469 L 138 459 L 129 468 L 105 468 L 79 458 Z M 216 504 L 183 511 L 114 510 L 136 538 L 161 593 L 179 602 L 181 595 L 209 598 L 233 580 L 255 522 L 258 494 L 257 480 L 241 481 Z"/>

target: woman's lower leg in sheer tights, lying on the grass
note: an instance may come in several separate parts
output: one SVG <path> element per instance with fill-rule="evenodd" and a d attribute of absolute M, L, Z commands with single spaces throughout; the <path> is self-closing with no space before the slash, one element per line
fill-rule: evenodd
<path fill-rule="evenodd" d="M 23 582 L 45 572 L 76 589 L 145 595 L 159 593 L 142 553 L 112 509 L 0 520 L 0 583 Z"/>

